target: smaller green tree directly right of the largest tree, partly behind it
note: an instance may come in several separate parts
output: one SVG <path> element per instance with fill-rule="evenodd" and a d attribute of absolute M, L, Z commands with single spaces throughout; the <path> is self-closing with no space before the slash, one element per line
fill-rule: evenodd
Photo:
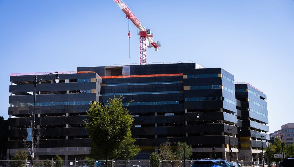
<path fill-rule="evenodd" d="M 136 146 L 134 143 L 135 139 L 132 138 L 131 133 L 129 133 L 116 149 L 115 159 L 133 159 L 141 151 L 141 148 Z"/>

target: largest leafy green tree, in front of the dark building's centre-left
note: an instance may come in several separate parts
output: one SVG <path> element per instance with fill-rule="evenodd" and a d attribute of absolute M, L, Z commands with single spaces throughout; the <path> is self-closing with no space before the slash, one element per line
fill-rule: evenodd
<path fill-rule="evenodd" d="M 105 106 L 99 102 L 90 104 L 85 121 L 91 138 L 91 155 L 106 161 L 115 157 L 123 139 L 131 134 L 133 125 L 133 117 L 123 106 L 123 96 L 114 96 L 107 103 Z"/>

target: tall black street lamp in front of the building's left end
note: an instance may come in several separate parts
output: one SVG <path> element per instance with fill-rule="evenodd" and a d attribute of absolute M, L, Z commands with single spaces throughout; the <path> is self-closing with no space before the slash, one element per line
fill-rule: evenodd
<path fill-rule="evenodd" d="M 56 78 L 55 78 L 55 82 L 58 83 L 59 82 L 59 77 L 58 77 L 58 72 L 52 72 L 49 74 L 56 74 Z M 46 78 L 49 74 L 47 74 L 44 78 Z M 41 80 L 37 80 L 37 75 L 35 76 L 35 80 L 33 81 L 34 87 L 35 87 L 35 91 L 34 91 L 34 109 L 33 109 L 33 125 L 32 125 L 32 163 L 31 163 L 31 167 L 33 167 L 33 161 L 34 161 L 34 131 L 35 131 L 35 112 L 36 112 L 36 87 L 37 84 L 39 82 L 41 82 L 44 78 L 42 78 Z"/>

